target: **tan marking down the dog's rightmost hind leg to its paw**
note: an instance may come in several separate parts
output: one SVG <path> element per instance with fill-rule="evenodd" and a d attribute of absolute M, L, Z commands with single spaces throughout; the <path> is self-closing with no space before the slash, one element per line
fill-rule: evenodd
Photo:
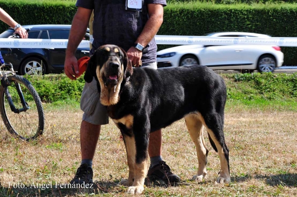
<path fill-rule="evenodd" d="M 209 136 L 211 137 L 212 141 L 214 142 L 216 148 L 218 149 L 218 154 L 220 157 L 221 162 L 221 170 L 220 170 L 220 177 L 217 178 L 217 183 L 229 183 L 231 181 L 229 168 L 228 168 L 228 161 L 225 157 L 224 149 L 216 139 L 215 135 L 213 134 L 212 130 L 207 129 Z"/>

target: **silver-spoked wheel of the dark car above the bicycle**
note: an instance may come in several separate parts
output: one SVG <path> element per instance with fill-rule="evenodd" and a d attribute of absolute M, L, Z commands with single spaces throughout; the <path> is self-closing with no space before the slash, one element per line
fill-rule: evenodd
<path fill-rule="evenodd" d="M 20 69 L 21 75 L 44 75 L 46 73 L 45 64 L 37 57 L 26 59 Z"/>

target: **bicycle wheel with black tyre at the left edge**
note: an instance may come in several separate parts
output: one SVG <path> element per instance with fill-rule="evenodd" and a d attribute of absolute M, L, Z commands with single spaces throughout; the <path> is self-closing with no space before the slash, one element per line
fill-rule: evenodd
<path fill-rule="evenodd" d="M 18 84 L 30 108 L 19 113 L 13 112 L 4 93 L 4 88 L 0 86 L 0 113 L 3 122 L 8 132 L 13 136 L 26 141 L 34 140 L 44 131 L 45 115 L 42 102 L 34 87 L 24 77 L 11 75 L 7 76 L 7 79 L 10 82 L 10 86 L 7 88 L 15 108 L 23 108 L 16 89 Z"/>

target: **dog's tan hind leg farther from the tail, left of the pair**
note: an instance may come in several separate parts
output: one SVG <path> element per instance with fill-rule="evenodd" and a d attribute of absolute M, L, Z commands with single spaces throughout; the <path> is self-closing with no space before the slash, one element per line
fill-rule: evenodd
<path fill-rule="evenodd" d="M 208 149 L 205 146 L 203 138 L 203 124 L 200 120 L 199 114 L 189 114 L 185 117 L 186 125 L 189 131 L 189 134 L 195 143 L 197 157 L 198 157 L 198 174 L 193 176 L 192 180 L 198 182 L 203 181 L 206 178 L 206 164 L 207 164 L 207 154 Z"/>

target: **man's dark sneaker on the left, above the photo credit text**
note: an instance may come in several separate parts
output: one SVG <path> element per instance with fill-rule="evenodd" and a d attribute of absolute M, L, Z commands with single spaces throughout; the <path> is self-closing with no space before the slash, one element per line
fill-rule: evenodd
<path fill-rule="evenodd" d="M 88 167 L 87 163 L 83 163 L 76 171 L 74 178 L 70 181 L 70 184 L 89 184 L 93 183 L 93 170 Z"/>

